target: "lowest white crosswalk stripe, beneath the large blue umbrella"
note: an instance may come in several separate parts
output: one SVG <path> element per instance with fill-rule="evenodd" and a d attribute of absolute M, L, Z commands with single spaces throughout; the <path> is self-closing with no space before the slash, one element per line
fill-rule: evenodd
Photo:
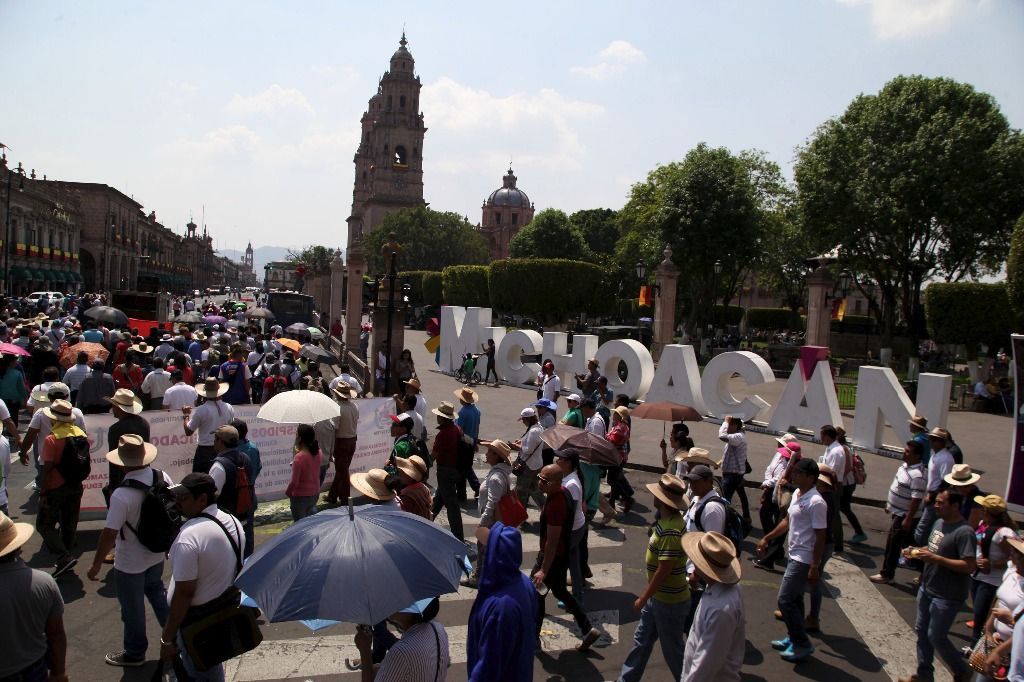
<path fill-rule="evenodd" d="M 548 599 L 548 608 L 554 608 L 554 598 Z M 443 614 L 443 608 L 441 613 Z M 591 624 L 601 631 L 595 648 L 611 646 L 618 641 L 618 611 L 597 610 L 587 613 Z M 336 626 L 340 628 L 342 626 Z M 347 626 L 351 627 L 351 626 Z M 466 663 L 466 637 L 468 626 L 445 626 L 452 665 Z M 541 626 L 541 647 L 545 651 L 562 651 L 580 643 L 580 630 L 572 616 L 559 611 L 549 613 Z M 351 633 L 345 635 L 310 635 L 295 639 L 265 639 L 252 651 L 224 663 L 227 680 L 279 680 L 285 678 L 310 678 L 340 676 L 348 669 L 345 659 L 354 660 L 359 653 L 352 642 Z M 351 673 L 354 678 L 359 673 Z"/>

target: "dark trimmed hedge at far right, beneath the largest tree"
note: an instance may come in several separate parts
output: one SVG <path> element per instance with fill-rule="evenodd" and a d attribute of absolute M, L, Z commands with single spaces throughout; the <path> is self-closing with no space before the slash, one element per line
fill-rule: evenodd
<path fill-rule="evenodd" d="M 935 283 L 925 290 L 925 318 L 936 343 L 961 344 L 968 359 L 978 356 L 978 345 L 1008 348 L 1018 323 L 1010 307 L 1007 284 L 980 282 Z"/>

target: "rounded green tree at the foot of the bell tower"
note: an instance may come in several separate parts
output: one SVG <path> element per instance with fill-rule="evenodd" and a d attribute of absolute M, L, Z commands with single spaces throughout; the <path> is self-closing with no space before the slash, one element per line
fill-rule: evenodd
<path fill-rule="evenodd" d="M 370 272 L 387 268 L 381 247 L 394 232 L 401 245 L 398 270 L 436 270 L 449 265 L 482 265 L 487 262 L 487 241 L 458 213 L 429 208 L 390 213 L 362 237 L 362 253 Z"/>

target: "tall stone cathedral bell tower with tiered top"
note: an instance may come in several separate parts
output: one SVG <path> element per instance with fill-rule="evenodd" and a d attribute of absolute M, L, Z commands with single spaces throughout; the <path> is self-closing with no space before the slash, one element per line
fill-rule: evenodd
<path fill-rule="evenodd" d="M 402 32 L 390 68 L 362 114 L 355 151 L 348 245 L 377 227 L 388 213 L 426 206 L 423 201 L 423 135 L 420 77 Z"/>

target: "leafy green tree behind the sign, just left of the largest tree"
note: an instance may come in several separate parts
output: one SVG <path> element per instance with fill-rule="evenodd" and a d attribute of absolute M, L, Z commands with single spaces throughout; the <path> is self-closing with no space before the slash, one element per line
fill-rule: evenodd
<path fill-rule="evenodd" d="M 783 188 L 778 166 L 763 154 L 736 156 L 699 144 L 683 161 L 658 166 L 633 185 L 620 211 L 620 272 L 632 284 L 635 275 L 629 272 L 642 260 L 650 280 L 665 245 L 671 245 L 686 323 L 699 336 L 712 318 L 716 294 L 727 304 L 760 255 L 767 216 L 781 202 Z M 717 278 L 716 261 L 722 267 Z"/>

